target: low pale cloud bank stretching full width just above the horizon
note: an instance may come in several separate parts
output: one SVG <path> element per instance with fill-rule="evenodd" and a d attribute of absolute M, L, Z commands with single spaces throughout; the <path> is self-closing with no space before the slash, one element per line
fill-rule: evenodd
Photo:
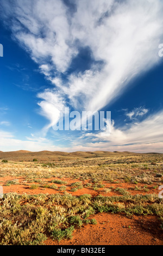
<path fill-rule="evenodd" d="M 109 129 L 97 133 L 82 131 L 82 135 L 62 136 L 69 141 L 68 146 L 59 146 L 56 134 L 52 139 L 36 136 L 33 133 L 26 140 L 16 139 L 11 132 L 0 130 L 0 150 L 52 150 L 52 151 L 133 151 L 137 153 L 158 152 L 163 153 L 163 111 L 151 114 L 146 119 L 130 126 L 117 128 L 112 122 L 111 133 Z M 81 134 L 81 133 L 80 133 Z M 60 141 L 60 139 L 59 139 Z"/>

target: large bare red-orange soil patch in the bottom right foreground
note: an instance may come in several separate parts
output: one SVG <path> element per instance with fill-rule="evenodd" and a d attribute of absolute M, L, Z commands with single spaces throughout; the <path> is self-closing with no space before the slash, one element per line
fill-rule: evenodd
<path fill-rule="evenodd" d="M 97 224 L 83 225 L 73 232 L 71 240 L 53 241 L 45 245 L 163 245 L 158 218 L 102 213 L 94 216 Z"/>

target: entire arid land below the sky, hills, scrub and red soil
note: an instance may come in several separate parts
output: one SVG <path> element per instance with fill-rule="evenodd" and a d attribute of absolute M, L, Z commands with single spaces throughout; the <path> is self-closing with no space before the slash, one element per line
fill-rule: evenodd
<path fill-rule="evenodd" d="M 0 151 L 0 244 L 163 245 L 162 185 L 159 153 Z"/>

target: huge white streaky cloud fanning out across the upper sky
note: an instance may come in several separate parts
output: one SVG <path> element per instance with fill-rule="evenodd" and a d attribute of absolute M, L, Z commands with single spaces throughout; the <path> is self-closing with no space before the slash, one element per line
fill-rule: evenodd
<path fill-rule="evenodd" d="M 65 94 L 73 107 L 97 111 L 120 95 L 129 81 L 158 64 L 163 3 L 160 0 L 75 0 L 76 11 L 60 0 L 2 0 L 4 17 L 12 17 L 13 36 L 31 54 L 48 80 L 57 86 L 55 98 Z M 12 11 L 10 11 L 12 9 Z M 89 47 L 94 63 L 90 70 L 62 81 L 79 47 Z M 52 72 L 55 70 L 55 72 Z M 65 73 L 66 74 L 66 73 Z M 55 77 L 55 78 L 54 78 Z M 47 92 L 42 92 L 47 94 Z M 59 117 L 49 117 L 52 125 Z M 82 102 L 82 104 L 81 104 Z M 48 100 L 39 103 L 41 113 L 54 112 Z M 46 105 L 46 106 L 45 106 Z M 50 111 L 52 108 L 52 111 Z M 50 127 L 50 125 L 49 125 Z"/>

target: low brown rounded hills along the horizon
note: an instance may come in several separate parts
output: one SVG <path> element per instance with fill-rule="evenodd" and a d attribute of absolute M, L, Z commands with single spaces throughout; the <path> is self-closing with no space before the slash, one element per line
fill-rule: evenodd
<path fill-rule="evenodd" d="M 18 150 L 3 152 L 0 151 L 0 160 L 9 160 L 9 161 L 33 161 L 37 159 L 38 161 L 56 161 L 56 160 L 68 160 L 68 159 L 87 159 L 92 157 L 106 157 L 106 156 L 131 156 L 131 155 L 140 155 L 141 153 L 131 153 L 131 152 L 110 152 L 110 151 L 76 151 L 72 153 L 61 152 L 61 151 L 39 151 L 32 152 L 27 150 Z M 160 153 L 146 153 L 146 154 L 158 154 Z"/>

